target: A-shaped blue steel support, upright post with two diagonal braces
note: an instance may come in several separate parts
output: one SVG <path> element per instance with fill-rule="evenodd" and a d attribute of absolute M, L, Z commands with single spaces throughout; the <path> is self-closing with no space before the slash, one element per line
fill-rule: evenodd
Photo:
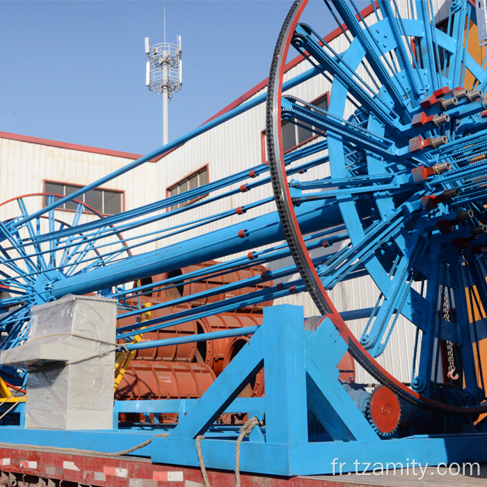
<path fill-rule="evenodd" d="M 262 436 L 255 435 L 255 439 L 259 448 L 267 445 L 273 451 L 280 446 L 283 454 L 276 462 L 266 456 L 269 458 L 266 472 L 270 473 L 268 469 L 273 473 L 289 472 L 289 456 L 285 452 L 308 444 L 308 406 L 333 439 L 377 441 L 374 429 L 338 380 L 337 364 L 347 348 L 329 318 L 316 331 L 305 332 L 303 308 L 291 305 L 265 308 L 264 324 L 248 345 L 179 420 L 170 436 L 161 438 L 163 444 L 159 445 L 159 438 L 154 438 L 157 444 L 152 450 L 152 460 L 198 465 L 196 436 L 209 430 L 263 365 L 265 428 Z M 241 465 L 251 461 L 253 445 L 255 440 L 251 436 L 245 443 L 246 453 L 242 450 Z M 227 456 L 218 454 L 222 449 Z M 210 436 L 202 441 L 202 450 L 209 468 L 234 468 L 233 441 Z"/>

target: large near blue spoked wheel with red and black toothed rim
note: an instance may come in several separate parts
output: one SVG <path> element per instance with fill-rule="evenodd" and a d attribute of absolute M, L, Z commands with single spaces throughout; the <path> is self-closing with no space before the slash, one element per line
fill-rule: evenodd
<path fill-rule="evenodd" d="M 468 45 L 464 26 L 474 8 L 453 2 L 443 32 L 432 26 L 427 2 L 416 3 L 421 10 L 408 22 L 396 1 L 380 2 L 366 23 L 353 1 L 325 1 L 328 15 L 347 27 L 342 36 L 349 47 L 339 54 L 320 37 L 323 24 L 299 23 L 307 3 L 296 0 L 282 26 L 266 112 L 273 191 L 297 269 L 321 314 L 377 381 L 423 408 L 484 412 L 484 378 L 476 362 L 481 364 L 479 341 L 487 336 L 487 196 L 481 187 L 487 76 L 455 40 Z M 291 46 L 310 61 L 308 79 L 329 81 L 327 110 L 282 93 Z M 285 154 L 283 122 L 316 138 Z M 296 161 L 309 160 L 313 169 L 298 181 L 287 176 Z M 337 238 L 344 245 L 319 262 L 306 248 L 295 213 L 309 200 L 337 205 L 346 226 Z M 362 276 L 372 278 L 378 296 L 374 308 L 356 311 L 369 319 L 355 336 L 326 290 Z M 413 362 L 418 356 L 419 365 L 413 365 L 410 388 L 376 360 L 400 315 L 417 327 Z M 439 399 L 440 340 L 461 351 L 465 407 Z"/>

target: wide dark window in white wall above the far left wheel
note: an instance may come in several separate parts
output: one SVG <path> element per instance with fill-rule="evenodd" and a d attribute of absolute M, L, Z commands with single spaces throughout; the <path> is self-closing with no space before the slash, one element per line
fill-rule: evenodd
<path fill-rule="evenodd" d="M 45 193 L 54 193 L 58 195 L 67 196 L 74 191 L 78 191 L 83 186 L 76 184 L 63 184 L 58 182 L 45 182 Z M 86 203 L 96 211 L 104 215 L 115 215 L 122 212 L 122 198 L 123 191 L 113 191 L 111 189 L 92 189 L 81 195 L 77 200 Z M 54 197 L 54 201 L 61 200 L 59 196 Z M 45 197 L 44 205 L 48 205 L 48 197 Z M 78 203 L 69 201 L 64 205 L 58 207 L 58 209 L 67 209 L 74 211 L 77 209 Z"/>

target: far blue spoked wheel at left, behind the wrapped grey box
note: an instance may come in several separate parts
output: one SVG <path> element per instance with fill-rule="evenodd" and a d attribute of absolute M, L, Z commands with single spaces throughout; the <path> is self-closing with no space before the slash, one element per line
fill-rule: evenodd
<path fill-rule="evenodd" d="M 71 211 L 65 212 L 67 221 L 56 218 L 51 210 L 22 222 L 42 202 L 50 205 L 59 198 L 63 196 L 33 193 L 0 204 L 6 216 L 0 222 L 0 290 L 10 295 L 1 301 L 0 329 L 6 335 L 0 349 L 10 349 L 25 340 L 31 306 L 51 300 L 52 282 L 131 255 L 118 232 L 109 238 L 99 237 L 97 232 L 83 233 L 83 219 L 99 220 L 103 216 L 79 200 L 70 202 Z"/>

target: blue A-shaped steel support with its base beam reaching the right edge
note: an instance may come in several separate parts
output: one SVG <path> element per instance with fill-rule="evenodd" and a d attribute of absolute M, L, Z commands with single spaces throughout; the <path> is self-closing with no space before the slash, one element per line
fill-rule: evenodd
<path fill-rule="evenodd" d="M 234 470 L 238 431 L 214 422 L 262 366 L 265 426 L 256 426 L 241 443 L 241 471 L 292 476 L 337 473 L 340 468 L 354 472 L 376 462 L 406 468 L 413 460 L 422 465 L 487 460 L 486 433 L 379 438 L 338 380 L 337 363 L 346 350 L 330 319 L 314 332 L 305 331 L 303 308 L 265 308 L 264 324 L 170 436 L 152 440 L 152 461 L 198 467 L 195 438 L 203 434 L 206 467 Z M 256 401 L 260 419 L 261 406 Z M 329 440 L 308 438 L 308 408 L 324 424 Z"/>

